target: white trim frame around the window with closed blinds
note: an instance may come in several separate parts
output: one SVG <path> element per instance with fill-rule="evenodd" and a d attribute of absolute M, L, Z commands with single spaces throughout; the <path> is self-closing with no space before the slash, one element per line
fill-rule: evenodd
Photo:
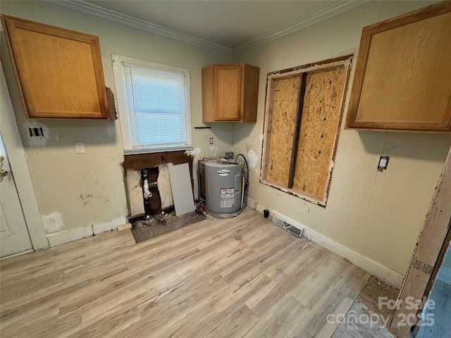
<path fill-rule="evenodd" d="M 191 130 L 191 99 L 190 99 L 190 70 L 187 68 L 180 68 L 173 65 L 165 65 L 163 63 L 156 63 L 152 61 L 140 60 L 138 58 L 130 58 L 128 56 L 121 56 L 117 54 L 111 55 L 113 61 L 113 76 L 116 82 L 116 100 L 118 103 L 118 115 L 121 123 L 123 149 L 126 155 L 128 154 L 146 154 L 155 153 L 159 151 L 177 151 L 192 149 L 192 130 Z M 172 73 L 180 73 L 185 75 L 185 94 L 186 94 L 186 132 L 187 144 L 178 146 L 147 146 L 140 148 L 133 148 L 132 134 L 130 130 L 130 118 L 128 115 L 127 95 L 125 88 L 124 65 L 134 65 L 137 67 L 150 68 L 155 70 L 166 70 Z"/>

